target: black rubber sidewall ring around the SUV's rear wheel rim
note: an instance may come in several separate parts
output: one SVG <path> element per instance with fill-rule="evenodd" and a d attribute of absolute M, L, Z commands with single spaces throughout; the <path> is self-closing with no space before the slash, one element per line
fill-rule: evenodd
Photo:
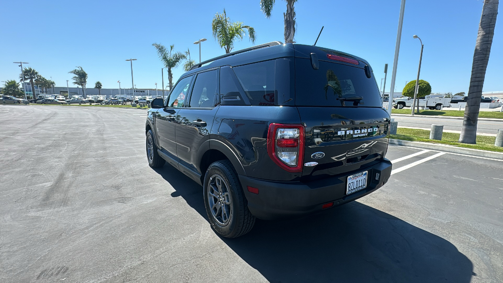
<path fill-rule="evenodd" d="M 230 211 L 230 216 L 229 216 L 229 222 L 225 226 L 221 226 L 218 222 L 215 221 L 213 218 L 213 215 L 211 214 L 211 210 L 208 204 L 208 184 L 210 181 L 210 177 L 213 176 L 214 174 L 219 175 L 227 185 L 227 188 L 229 189 L 229 195 L 231 198 L 231 203 L 232 203 L 232 208 Z M 212 164 L 206 170 L 206 174 L 204 176 L 204 184 L 203 184 L 203 196 L 204 196 L 204 207 L 206 209 L 206 214 L 208 215 L 208 220 L 211 224 L 211 227 L 219 234 L 220 236 L 223 237 L 228 237 L 231 238 L 234 232 L 234 228 L 237 225 L 237 207 L 236 205 L 238 204 L 238 199 L 236 197 L 235 190 L 240 189 L 240 188 L 235 188 L 234 184 L 230 182 L 229 176 L 227 173 L 225 173 L 224 170 L 222 170 L 220 164 Z M 235 232 L 234 232 L 235 233 Z"/>

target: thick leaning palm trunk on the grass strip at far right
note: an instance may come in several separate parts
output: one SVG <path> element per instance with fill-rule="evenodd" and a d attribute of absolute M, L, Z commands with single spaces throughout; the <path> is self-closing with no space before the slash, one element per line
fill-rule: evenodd
<path fill-rule="evenodd" d="M 499 0 L 485 0 L 482 7 L 482 16 L 478 26 L 477 41 L 473 53 L 472 74 L 470 87 L 468 88 L 468 99 L 466 101 L 465 113 L 463 117 L 463 127 L 459 142 L 464 144 L 475 144 L 477 136 L 477 119 L 480 110 L 480 99 L 482 97 L 482 87 L 484 85 L 485 70 L 489 61 L 492 37 L 494 36 L 494 26 L 496 25 L 496 15 L 498 14 Z"/>

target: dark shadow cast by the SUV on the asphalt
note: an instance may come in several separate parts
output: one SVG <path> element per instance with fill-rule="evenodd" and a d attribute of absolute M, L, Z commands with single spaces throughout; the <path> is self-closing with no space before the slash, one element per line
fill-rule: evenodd
<path fill-rule="evenodd" d="M 170 165 L 155 171 L 207 220 L 200 185 Z M 248 234 L 222 240 L 270 282 L 465 283 L 475 275 L 449 241 L 358 201 L 301 219 L 257 220 Z"/>

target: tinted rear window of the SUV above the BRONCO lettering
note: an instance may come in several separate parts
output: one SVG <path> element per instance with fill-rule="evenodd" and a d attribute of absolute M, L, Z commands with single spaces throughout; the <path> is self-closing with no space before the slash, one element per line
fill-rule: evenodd
<path fill-rule="evenodd" d="M 296 105 L 353 106 L 343 100 L 350 97 L 363 98 L 358 107 L 382 107 L 374 75 L 367 78 L 363 68 L 319 61 L 315 70 L 309 59 L 295 59 Z"/>

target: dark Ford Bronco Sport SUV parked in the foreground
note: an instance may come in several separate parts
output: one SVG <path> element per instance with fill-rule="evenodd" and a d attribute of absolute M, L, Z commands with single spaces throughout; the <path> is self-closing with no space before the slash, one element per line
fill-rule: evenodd
<path fill-rule="evenodd" d="M 390 117 L 362 58 L 272 42 L 201 62 L 146 121 L 150 167 L 167 161 L 203 186 L 212 228 L 301 216 L 384 185 Z"/>

